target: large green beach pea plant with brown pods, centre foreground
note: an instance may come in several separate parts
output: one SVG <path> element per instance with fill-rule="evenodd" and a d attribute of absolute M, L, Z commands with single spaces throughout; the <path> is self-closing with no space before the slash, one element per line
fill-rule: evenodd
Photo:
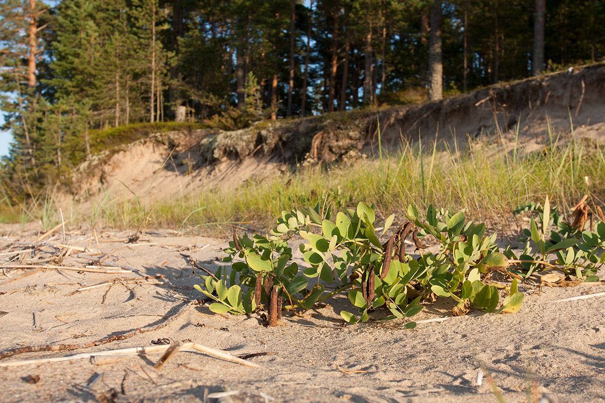
<path fill-rule="evenodd" d="M 283 308 L 299 314 L 342 291 L 354 308 L 341 312 L 348 323 L 367 321 L 386 308 L 380 320 L 399 318 L 407 328 L 416 326 L 409 318 L 422 310 L 421 303 L 437 296 L 453 298 L 462 314 L 471 307 L 515 312 L 522 305 L 517 278 L 510 286 L 490 280 L 494 271 L 518 276 L 507 271 L 508 258 L 495 245 L 495 234 L 486 236 L 485 224 L 466 222 L 462 211 L 452 214 L 431 205 L 425 221 L 410 206 L 399 227 L 391 228 L 393 214 L 377 228 L 375 210 L 360 202 L 336 214 L 319 205 L 283 211 L 264 236 L 234 233 L 224 250 L 227 265 L 203 276 L 204 283 L 195 288 L 215 301 L 211 311 L 250 314 L 264 309 L 270 326 L 279 323 Z M 296 234 L 306 241 L 300 246 L 302 268 L 292 261 L 289 247 Z M 439 245 L 436 253 L 423 252 L 428 240 Z M 409 253 L 416 250 L 419 257 Z M 328 292 L 325 285 L 336 289 Z"/>

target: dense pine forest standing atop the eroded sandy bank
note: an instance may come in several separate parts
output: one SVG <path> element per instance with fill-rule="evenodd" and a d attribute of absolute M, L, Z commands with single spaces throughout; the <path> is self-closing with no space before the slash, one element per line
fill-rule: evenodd
<path fill-rule="evenodd" d="M 595 0 L 4 0 L 4 169 L 59 172 L 95 130 L 237 128 L 436 100 L 603 57 Z"/>

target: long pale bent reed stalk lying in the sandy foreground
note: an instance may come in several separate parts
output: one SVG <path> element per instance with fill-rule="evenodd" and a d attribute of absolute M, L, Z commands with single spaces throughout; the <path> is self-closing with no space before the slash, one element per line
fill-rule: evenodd
<path fill-rule="evenodd" d="M 117 349 L 117 350 L 107 350 L 107 351 L 96 351 L 90 353 L 79 353 L 75 355 L 67 355 L 62 357 L 52 357 L 52 358 L 36 358 L 36 359 L 20 359 L 15 361 L 5 361 L 4 363 L 0 363 L 0 367 L 20 367 L 29 364 L 45 364 L 45 363 L 56 363 L 59 361 L 71 361 L 72 359 L 82 359 L 82 358 L 90 358 L 92 356 L 115 356 L 115 355 L 139 355 L 152 353 L 157 351 L 168 350 L 171 346 L 143 346 L 143 347 L 132 347 L 130 349 Z M 231 355 L 223 350 L 212 349 L 210 347 L 202 346 L 201 344 L 196 343 L 183 343 L 181 344 L 178 351 L 186 351 L 186 352 L 203 352 L 208 355 L 216 356 L 219 358 L 226 359 L 227 361 L 231 361 L 232 363 L 242 364 L 248 367 L 260 368 L 261 366 L 255 363 L 250 363 L 250 361 L 246 361 L 245 359 L 238 358 L 234 355 Z"/>

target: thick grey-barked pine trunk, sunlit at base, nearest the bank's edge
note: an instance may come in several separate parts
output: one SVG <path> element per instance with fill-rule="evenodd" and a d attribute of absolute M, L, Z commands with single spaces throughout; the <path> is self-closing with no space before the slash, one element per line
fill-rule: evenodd
<path fill-rule="evenodd" d="M 428 45 L 428 100 L 443 98 L 443 61 L 441 54 L 441 0 L 434 0 L 431 10 L 431 36 Z"/>

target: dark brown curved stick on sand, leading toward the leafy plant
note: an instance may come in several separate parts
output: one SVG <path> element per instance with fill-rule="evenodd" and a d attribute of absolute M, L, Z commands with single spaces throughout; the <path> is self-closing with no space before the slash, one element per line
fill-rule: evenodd
<path fill-rule="evenodd" d="M 89 347 L 100 346 L 101 344 L 111 343 L 116 340 L 126 340 L 127 338 L 131 338 L 137 334 L 142 334 L 146 332 L 151 332 L 152 330 L 162 329 L 162 327 L 168 326 L 169 323 L 180 317 L 183 312 L 187 311 L 192 305 L 198 303 L 198 300 L 192 300 L 182 306 L 178 312 L 171 317 L 168 317 L 165 321 L 155 324 L 154 326 L 148 325 L 145 327 L 138 327 L 137 329 L 128 330 L 122 334 L 113 335 L 110 337 L 105 337 L 100 340 L 91 341 L 90 343 L 85 344 L 44 344 L 42 346 L 24 346 L 17 347 L 16 349 L 6 350 L 0 352 L 0 359 L 4 359 L 13 355 L 19 355 L 23 353 L 32 353 L 39 351 L 69 351 L 69 350 L 77 350 L 77 349 L 87 349 Z"/>

